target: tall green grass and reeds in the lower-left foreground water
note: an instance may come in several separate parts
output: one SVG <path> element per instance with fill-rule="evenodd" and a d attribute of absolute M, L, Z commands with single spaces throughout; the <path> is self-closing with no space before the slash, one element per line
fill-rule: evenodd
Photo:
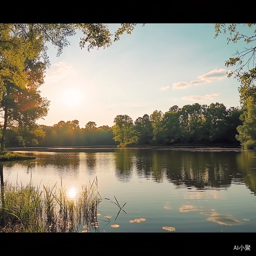
<path fill-rule="evenodd" d="M 67 189 L 28 184 L 1 187 L 0 232 L 78 232 L 98 228 L 101 197 L 97 178 L 82 186 L 74 200 Z"/>

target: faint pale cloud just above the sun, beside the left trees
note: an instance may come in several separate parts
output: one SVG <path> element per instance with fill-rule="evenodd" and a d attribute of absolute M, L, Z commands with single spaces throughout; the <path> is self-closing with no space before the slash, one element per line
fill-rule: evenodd
<path fill-rule="evenodd" d="M 56 66 L 58 69 L 56 71 L 50 71 L 46 73 L 45 81 L 47 82 L 57 82 L 70 74 L 71 70 L 73 69 L 72 66 L 68 66 L 63 61 L 54 63 L 52 66 Z"/>

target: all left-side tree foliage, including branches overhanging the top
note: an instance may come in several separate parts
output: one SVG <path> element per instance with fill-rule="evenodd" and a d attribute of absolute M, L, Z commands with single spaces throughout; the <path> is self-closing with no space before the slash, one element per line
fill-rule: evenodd
<path fill-rule="evenodd" d="M 1 151 L 11 121 L 18 123 L 15 129 L 36 129 L 35 120 L 48 113 L 49 101 L 41 98 L 38 90 L 50 66 L 47 42 L 57 47 L 59 56 L 69 45 L 68 37 L 81 31 L 84 36 L 79 47 L 90 51 L 110 47 L 124 32 L 131 34 L 135 26 L 121 24 L 111 33 L 104 24 L 0 24 L 0 108 L 4 111 Z"/>

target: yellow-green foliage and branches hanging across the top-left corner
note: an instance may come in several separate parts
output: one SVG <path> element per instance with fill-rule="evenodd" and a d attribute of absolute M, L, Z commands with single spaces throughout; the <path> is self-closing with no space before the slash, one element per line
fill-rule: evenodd
<path fill-rule="evenodd" d="M 112 34 L 104 24 L 0 24 L 0 94 L 5 91 L 3 79 L 8 79 L 19 87 L 25 86 L 27 77 L 23 71 L 26 59 L 42 57 L 49 67 L 47 42 L 57 47 L 59 56 L 63 48 L 69 45 L 67 37 L 81 31 L 84 37 L 79 46 L 87 47 L 90 51 L 94 47 L 110 47 L 124 32 L 131 34 L 135 26 L 136 24 L 121 24 Z"/>

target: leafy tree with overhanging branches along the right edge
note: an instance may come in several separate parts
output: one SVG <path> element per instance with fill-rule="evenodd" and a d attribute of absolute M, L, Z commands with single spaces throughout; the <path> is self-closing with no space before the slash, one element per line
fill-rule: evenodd
<path fill-rule="evenodd" d="M 241 32 L 243 31 L 242 26 L 246 26 L 251 29 L 250 34 L 245 34 Z M 229 32 L 229 37 L 227 38 L 228 42 L 236 43 L 238 40 L 244 40 L 246 43 L 246 47 L 243 50 L 237 50 L 236 54 L 233 57 L 230 57 L 229 60 L 225 62 L 226 67 L 236 66 L 236 70 L 230 72 L 228 74 L 229 77 L 232 75 L 238 79 L 240 82 L 239 93 L 240 93 L 240 102 L 243 109 L 243 115 L 241 116 L 241 120 L 244 121 L 244 125 L 239 126 L 239 140 L 241 141 L 243 147 L 247 147 L 246 143 L 248 142 L 251 146 L 256 144 L 256 138 L 253 138 L 252 135 L 248 135 L 249 131 L 253 131 L 255 127 L 254 123 L 251 121 L 253 112 L 253 104 L 256 103 L 256 63 L 255 63 L 255 52 L 256 52 L 256 30 L 255 24 L 247 23 L 244 25 L 241 24 L 216 24 L 216 37 L 224 32 Z M 249 114 L 250 113 L 250 114 Z M 250 125 L 252 125 L 250 127 Z M 244 130 L 246 129 L 246 130 Z M 247 132 L 246 132 L 247 131 Z M 246 135 L 247 134 L 247 135 Z M 249 137 L 248 137 L 249 136 Z M 247 142 L 246 142 L 247 141 Z M 254 143 L 254 144 L 253 144 Z M 248 145 L 249 145 L 248 144 Z"/>

